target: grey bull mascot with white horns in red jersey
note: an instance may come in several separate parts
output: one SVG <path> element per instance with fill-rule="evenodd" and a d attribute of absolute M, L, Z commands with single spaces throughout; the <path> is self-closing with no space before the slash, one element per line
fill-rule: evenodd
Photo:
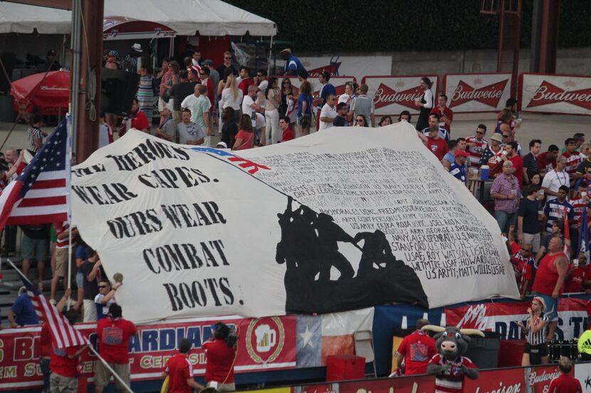
<path fill-rule="evenodd" d="M 459 329 L 455 326 L 426 325 L 422 330 L 435 332 L 435 347 L 439 351 L 427 365 L 427 373 L 435 375 L 435 393 L 463 391 L 464 376 L 478 378 L 478 367 L 468 358 L 462 356 L 468 350 L 470 335 L 484 337 L 484 333 L 476 329 Z"/>

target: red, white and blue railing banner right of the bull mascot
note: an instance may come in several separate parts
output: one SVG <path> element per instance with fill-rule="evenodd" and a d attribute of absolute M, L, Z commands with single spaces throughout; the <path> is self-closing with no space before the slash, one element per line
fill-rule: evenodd
<path fill-rule="evenodd" d="M 485 302 L 446 308 L 445 316 L 449 325 L 459 328 L 476 328 L 499 333 L 502 340 L 522 338 L 521 329 L 517 325 L 525 320 L 525 312 L 530 301 Z M 577 338 L 585 331 L 587 319 L 587 300 L 562 297 L 558 301 L 559 340 Z"/>

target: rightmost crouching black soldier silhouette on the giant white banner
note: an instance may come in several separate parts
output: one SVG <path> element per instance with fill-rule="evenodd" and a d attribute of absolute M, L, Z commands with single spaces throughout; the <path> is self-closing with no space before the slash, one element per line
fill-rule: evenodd
<path fill-rule="evenodd" d="M 361 249 L 362 255 L 359 262 L 359 269 L 357 269 L 357 276 L 365 276 L 374 271 L 374 264 L 378 269 L 395 267 L 396 258 L 392 254 L 392 248 L 386 235 L 381 230 L 375 232 L 359 232 L 355 235 L 355 243 L 364 240 Z M 382 266 L 383 265 L 383 266 Z"/>

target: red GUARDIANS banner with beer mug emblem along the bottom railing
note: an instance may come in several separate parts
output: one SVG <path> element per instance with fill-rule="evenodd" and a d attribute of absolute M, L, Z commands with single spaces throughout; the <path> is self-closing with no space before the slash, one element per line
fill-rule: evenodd
<path fill-rule="evenodd" d="M 237 373 L 295 368 L 295 316 L 196 318 L 138 325 L 138 335 L 130 340 L 132 381 L 159 379 L 169 357 L 177 353 L 181 338 L 192 341 L 189 359 L 193 371 L 204 375 L 206 355 L 202 343 L 211 338 L 211 327 L 219 321 L 236 326 L 239 350 L 234 369 Z M 82 323 L 77 328 L 96 345 L 95 324 Z M 38 366 L 40 332 L 40 327 L 0 330 L 0 390 L 42 385 Z M 84 377 L 93 377 L 95 360 L 89 352 L 80 357 Z"/>

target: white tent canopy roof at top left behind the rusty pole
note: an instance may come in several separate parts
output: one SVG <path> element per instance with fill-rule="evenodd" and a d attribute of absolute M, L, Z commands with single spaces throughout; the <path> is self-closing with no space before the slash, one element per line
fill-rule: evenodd
<path fill-rule="evenodd" d="M 105 16 L 168 26 L 179 36 L 275 36 L 273 21 L 219 0 L 105 0 Z M 68 34 L 71 11 L 0 1 L 0 33 Z"/>

